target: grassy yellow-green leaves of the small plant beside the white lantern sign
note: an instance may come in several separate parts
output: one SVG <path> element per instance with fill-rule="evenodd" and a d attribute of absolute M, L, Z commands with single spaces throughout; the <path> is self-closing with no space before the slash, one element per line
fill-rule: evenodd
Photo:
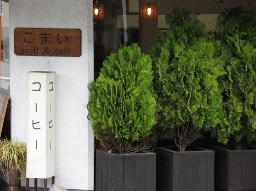
<path fill-rule="evenodd" d="M 27 145 L 23 142 L 0 140 L 0 170 L 9 174 L 19 170 L 26 177 Z"/>

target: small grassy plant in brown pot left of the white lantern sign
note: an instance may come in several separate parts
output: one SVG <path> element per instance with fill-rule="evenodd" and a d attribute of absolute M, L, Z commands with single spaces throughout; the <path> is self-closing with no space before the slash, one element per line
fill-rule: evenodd
<path fill-rule="evenodd" d="M 21 173 L 26 177 L 27 145 L 23 142 L 0 140 L 0 170 L 9 177 L 9 190 L 21 190 Z"/>

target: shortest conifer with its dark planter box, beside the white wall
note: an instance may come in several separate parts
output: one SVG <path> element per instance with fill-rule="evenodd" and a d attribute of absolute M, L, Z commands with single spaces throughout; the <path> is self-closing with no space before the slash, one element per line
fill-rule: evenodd
<path fill-rule="evenodd" d="M 120 47 L 88 85 L 96 151 L 96 190 L 155 190 L 156 155 L 147 139 L 155 124 L 152 60 L 137 44 Z"/>

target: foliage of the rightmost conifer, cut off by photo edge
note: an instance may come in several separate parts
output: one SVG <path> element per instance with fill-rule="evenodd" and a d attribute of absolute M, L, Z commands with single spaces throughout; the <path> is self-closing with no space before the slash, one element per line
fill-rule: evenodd
<path fill-rule="evenodd" d="M 218 141 L 242 143 L 256 138 L 256 15 L 242 7 L 225 9 L 217 19 L 221 55 L 227 74 L 223 77 L 225 118 Z"/>

